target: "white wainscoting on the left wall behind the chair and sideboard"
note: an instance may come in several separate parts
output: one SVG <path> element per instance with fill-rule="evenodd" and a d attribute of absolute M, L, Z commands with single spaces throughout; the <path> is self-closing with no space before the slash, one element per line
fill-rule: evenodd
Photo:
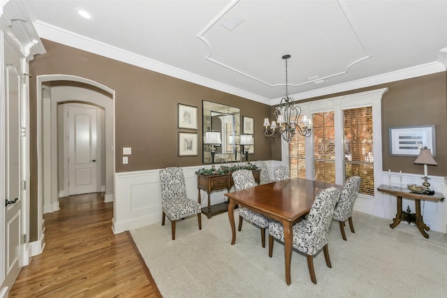
<path fill-rule="evenodd" d="M 270 177 L 273 167 L 280 161 L 266 161 Z M 219 165 L 216 165 L 219 167 Z M 198 200 L 196 171 L 203 165 L 182 167 L 189 198 Z M 210 166 L 206 166 L 210 167 Z M 226 189 L 211 193 L 211 204 L 223 202 Z M 202 207 L 207 206 L 207 193 L 200 191 Z M 202 216 L 206 225 L 207 217 Z M 152 223 L 161 224 L 161 190 L 159 170 L 119 172 L 115 174 L 115 209 L 113 211 L 113 232 L 115 234 L 140 228 Z"/>

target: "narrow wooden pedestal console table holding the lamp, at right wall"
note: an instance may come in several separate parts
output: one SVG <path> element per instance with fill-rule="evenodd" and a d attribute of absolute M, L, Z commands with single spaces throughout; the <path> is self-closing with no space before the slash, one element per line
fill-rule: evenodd
<path fill-rule="evenodd" d="M 425 225 L 423 216 L 420 213 L 420 200 L 430 200 L 433 202 L 444 201 L 444 195 L 442 193 L 434 193 L 434 195 L 424 195 L 422 193 L 412 193 L 407 188 L 399 188 L 389 185 L 381 185 L 377 190 L 382 193 L 389 193 L 397 197 L 397 214 L 393 218 L 393 223 L 390 224 L 390 228 L 394 229 L 399 225 L 400 221 L 407 221 L 408 223 L 416 223 L 419 231 L 425 238 L 428 238 L 428 234 L 425 231 L 430 231 L 430 227 Z M 412 214 L 409 209 L 407 211 L 402 210 L 402 197 L 415 201 L 416 214 Z"/>

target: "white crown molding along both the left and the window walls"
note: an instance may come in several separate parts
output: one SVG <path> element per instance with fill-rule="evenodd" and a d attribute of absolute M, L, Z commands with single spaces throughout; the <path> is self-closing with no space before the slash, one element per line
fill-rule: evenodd
<path fill-rule="evenodd" d="M 142 57 L 141 55 L 133 54 L 132 52 L 122 50 L 118 47 L 113 47 L 106 43 L 101 43 L 98 40 L 93 40 L 91 38 L 81 36 L 77 33 L 73 33 L 71 31 L 67 31 L 65 29 L 52 26 L 51 24 L 47 24 L 45 22 L 36 21 L 34 22 L 34 27 L 36 28 L 36 31 L 41 38 L 52 40 L 56 43 L 61 43 L 63 45 L 68 45 L 70 47 L 75 47 L 77 49 L 85 50 L 87 52 L 98 54 L 103 57 L 108 57 L 110 59 L 115 59 L 117 61 L 122 61 L 127 64 L 152 70 L 157 73 L 163 73 L 164 75 L 169 75 L 171 77 L 177 77 L 180 80 L 185 80 L 187 82 L 192 82 L 194 84 L 200 84 L 202 86 L 223 91 L 228 94 L 233 94 L 235 96 L 240 96 L 242 98 L 248 98 L 250 100 L 254 100 L 258 103 L 263 103 L 265 105 L 278 105 L 281 102 L 281 98 L 270 99 L 264 96 L 253 94 L 248 91 L 244 91 L 242 89 L 237 89 L 227 84 L 222 84 L 220 82 L 210 80 L 206 77 L 187 72 L 186 70 L 175 68 L 173 66 L 169 66 L 168 64 L 163 64 L 154 59 Z M 378 84 L 385 84 L 388 82 L 406 80 L 411 77 L 420 77 L 423 75 L 440 73 L 446 71 L 446 64 L 447 64 L 446 51 L 447 51 L 446 49 L 440 51 L 438 59 L 439 61 L 434 61 L 428 64 L 422 64 L 420 66 L 414 66 L 411 68 L 405 68 L 402 70 L 396 70 L 382 75 L 366 77 L 364 79 L 355 80 L 352 82 L 346 82 L 343 84 L 337 84 L 335 86 L 293 94 L 291 96 L 293 96 L 295 100 L 303 100 L 317 96 L 325 96 L 329 94 L 336 94 L 338 92 L 370 87 Z"/>

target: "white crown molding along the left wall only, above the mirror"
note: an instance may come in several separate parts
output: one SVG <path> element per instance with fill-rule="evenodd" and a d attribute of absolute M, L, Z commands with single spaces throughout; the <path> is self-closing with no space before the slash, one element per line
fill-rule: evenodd
<path fill-rule="evenodd" d="M 101 43 L 98 40 L 87 38 L 81 36 L 80 34 L 73 33 L 71 31 L 55 27 L 51 24 L 45 22 L 36 21 L 33 23 L 38 35 L 41 38 L 54 41 L 56 43 L 61 43 L 63 45 L 68 45 L 69 47 L 75 47 L 79 50 L 84 50 L 94 54 L 101 55 L 103 57 L 108 57 L 117 61 L 122 61 L 127 64 L 145 68 L 147 70 L 155 71 L 156 73 L 163 73 L 163 75 L 169 75 L 170 77 L 176 77 L 180 80 L 185 80 L 187 82 L 192 82 L 194 84 L 199 84 L 204 87 L 211 89 L 216 89 L 219 91 L 226 92 L 228 94 L 233 94 L 235 96 L 240 96 L 242 98 L 248 98 L 250 100 L 257 101 L 258 103 L 264 103 L 265 105 L 270 105 L 270 98 L 264 96 L 259 96 L 242 89 L 237 89 L 231 87 L 227 84 L 222 84 L 215 80 L 210 80 L 207 77 L 201 75 L 196 75 L 190 73 L 186 70 L 180 68 L 175 68 L 168 64 L 163 64 L 154 59 L 149 59 L 132 52 L 122 50 L 119 47 L 114 47 L 106 43 Z"/>

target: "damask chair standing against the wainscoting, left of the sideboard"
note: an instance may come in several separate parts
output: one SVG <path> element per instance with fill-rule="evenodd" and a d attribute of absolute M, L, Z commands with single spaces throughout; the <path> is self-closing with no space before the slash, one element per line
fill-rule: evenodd
<path fill-rule="evenodd" d="M 165 217 L 170 220 L 173 240 L 175 240 L 175 221 L 197 214 L 198 229 L 202 230 L 202 207 L 186 197 L 183 170 L 179 167 L 166 167 L 160 170 L 161 182 L 161 225 Z"/>

